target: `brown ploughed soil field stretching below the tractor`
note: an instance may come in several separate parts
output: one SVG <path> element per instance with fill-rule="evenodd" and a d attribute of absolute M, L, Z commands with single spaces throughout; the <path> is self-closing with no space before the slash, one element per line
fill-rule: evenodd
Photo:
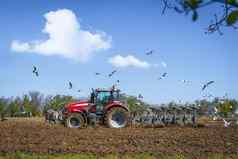
<path fill-rule="evenodd" d="M 235 158 L 238 156 L 238 127 L 69 129 L 35 118 L 0 122 L 0 155 L 16 152 L 37 155 L 182 154 L 192 158 L 223 155 Z"/>

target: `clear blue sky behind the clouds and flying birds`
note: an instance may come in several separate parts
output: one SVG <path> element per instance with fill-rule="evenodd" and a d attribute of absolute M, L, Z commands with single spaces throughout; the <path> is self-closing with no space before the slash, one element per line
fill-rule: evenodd
<path fill-rule="evenodd" d="M 65 58 L 11 49 L 14 40 L 47 40 L 48 35 L 42 33 L 46 24 L 44 15 L 62 9 L 76 16 L 80 29 L 94 35 L 106 34 L 110 47 L 92 51 L 93 55 L 83 62 L 73 59 L 80 58 L 79 55 Z M 193 101 L 201 98 L 202 84 L 214 80 L 204 93 L 214 96 L 228 93 L 237 99 L 237 30 L 224 28 L 223 36 L 204 34 L 213 15 L 211 9 L 216 8 L 203 8 L 196 23 L 191 17 L 173 11 L 161 15 L 161 9 L 157 0 L 1 1 L 0 96 L 21 96 L 32 90 L 86 96 L 92 87 L 110 87 L 119 79 L 124 93 L 141 93 L 150 103 Z M 82 43 L 77 43 L 77 49 L 81 47 Z M 145 52 L 151 49 L 156 52 L 146 56 Z M 128 66 L 119 68 L 112 78 L 96 77 L 95 72 L 107 75 L 115 69 L 108 60 L 116 55 L 132 55 L 151 67 Z M 167 67 L 161 62 L 166 62 Z M 33 65 L 39 68 L 38 78 L 32 75 Z M 164 72 L 168 76 L 157 80 Z M 191 84 L 179 80 L 189 80 Z M 73 83 L 72 90 L 68 89 L 68 81 Z M 78 89 L 82 92 L 78 93 Z"/>

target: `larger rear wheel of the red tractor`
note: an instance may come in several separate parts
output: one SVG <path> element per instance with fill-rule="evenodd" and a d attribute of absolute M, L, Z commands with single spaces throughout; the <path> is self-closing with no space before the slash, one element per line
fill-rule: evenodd
<path fill-rule="evenodd" d="M 124 128 L 128 124 L 129 112 L 121 107 L 111 108 L 105 116 L 109 128 Z"/>

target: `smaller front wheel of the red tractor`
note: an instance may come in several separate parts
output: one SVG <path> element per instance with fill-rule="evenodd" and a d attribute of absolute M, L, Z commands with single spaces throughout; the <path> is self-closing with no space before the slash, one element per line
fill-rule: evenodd
<path fill-rule="evenodd" d="M 85 120 L 81 113 L 73 113 L 66 118 L 65 125 L 68 128 L 82 128 L 85 126 Z"/>

